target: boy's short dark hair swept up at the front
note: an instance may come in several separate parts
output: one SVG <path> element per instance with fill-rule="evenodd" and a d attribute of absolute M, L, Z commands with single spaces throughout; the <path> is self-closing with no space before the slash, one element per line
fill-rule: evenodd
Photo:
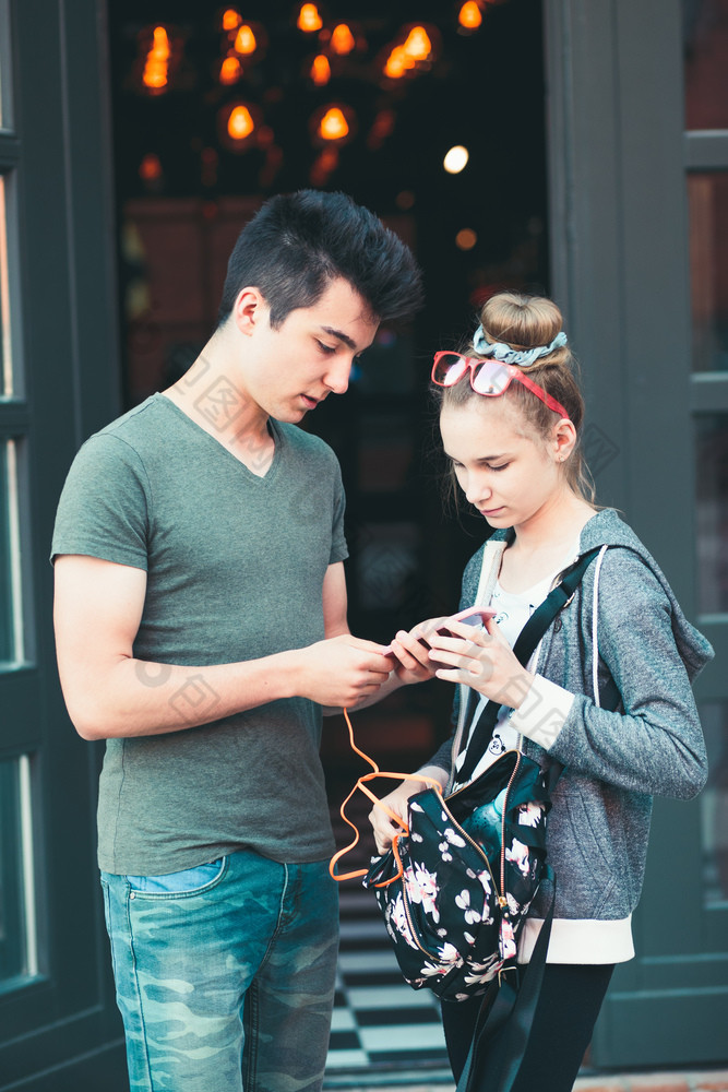
<path fill-rule="evenodd" d="M 421 304 L 421 274 L 407 246 L 345 193 L 299 190 L 271 198 L 230 254 L 218 325 L 238 293 L 259 288 L 276 330 L 290 311 L 312 307 L 344 277 L 380 321 L 406 319 Z"/>

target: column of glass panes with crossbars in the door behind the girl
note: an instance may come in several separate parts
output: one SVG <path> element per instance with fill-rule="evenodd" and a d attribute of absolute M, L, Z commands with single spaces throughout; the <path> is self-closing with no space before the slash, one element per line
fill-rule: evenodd
<path fill-rule="evenodd" d="M 711 767 L 701 898 L 706 939 L 719 948 L 728 936 L 728 3 L 685 2 L 683 19 L 697 624 L 724 665 L 697 685 Z"/>

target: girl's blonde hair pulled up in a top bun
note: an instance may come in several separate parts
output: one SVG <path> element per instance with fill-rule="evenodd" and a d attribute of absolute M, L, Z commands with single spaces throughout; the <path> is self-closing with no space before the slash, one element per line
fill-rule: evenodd
<path fill-rule="evenodd" d="M 550 345 L 563 327 L 561 311 L 552 299 L 545 296 L 525 296 L 515 292 L 500 292 L 487 301 L 480 312 L 480 325 L 489 342 L 500 342 L 516 351 L 535 348 L 539 345 Z M 473 345 L 473 341 L 462 352 L 469 357 L 480 358 L 481 354 Z M 485 359 L 485 357 L 482 357 Z M 517 365 L 516 365 L 517 367 Z M 539 357 L 534 364 L 523 368 L 547 394 L 561 403 L 574 428 L 576 429 L 576 446 L 564 464 L 566 482 L 573 491 L 588 505 L 595 505 L 596 490 L 582 450 L 582 430 L 584 424 L 584 399 L 578 384 L 578 365 L 568 345 L 554 348 L 547 356 Z M 470 387 L 468 376 L 465 376 L 454 387 L 435 387 L 433 394 L 440 412 L 445 408 L 465 405 L 472 399 L 481 399 Z M 517 406 L 522 416 L 544 440 L 551 437 L 556 415 L 540 399 L 523 383 L 512 382 L 508 390 L 499 395 L 506 399 L 511 405 Z"/>

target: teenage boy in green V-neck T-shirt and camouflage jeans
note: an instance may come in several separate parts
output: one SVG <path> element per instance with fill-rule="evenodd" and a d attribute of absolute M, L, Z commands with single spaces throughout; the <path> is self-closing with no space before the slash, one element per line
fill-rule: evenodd
<path fill-rule="evenodd" d="M 271 199 L 189 372 L 69 473 L 58 662 L 77 732 L 106 740 L 98 859 L 132 1090 L 321 1088 L 338 926 L 321 707 L 416 679 L 349 634 L 338 464 L 296 425 L 420 292 L 349 198 Z"/>

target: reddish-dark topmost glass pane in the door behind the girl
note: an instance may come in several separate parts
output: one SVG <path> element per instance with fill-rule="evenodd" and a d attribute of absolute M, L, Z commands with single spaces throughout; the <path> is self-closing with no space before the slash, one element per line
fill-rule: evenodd
<path fill-rule="evenodd" d="M 683 0 L 685 127 L 728 129 L 728 0 Z"/>

